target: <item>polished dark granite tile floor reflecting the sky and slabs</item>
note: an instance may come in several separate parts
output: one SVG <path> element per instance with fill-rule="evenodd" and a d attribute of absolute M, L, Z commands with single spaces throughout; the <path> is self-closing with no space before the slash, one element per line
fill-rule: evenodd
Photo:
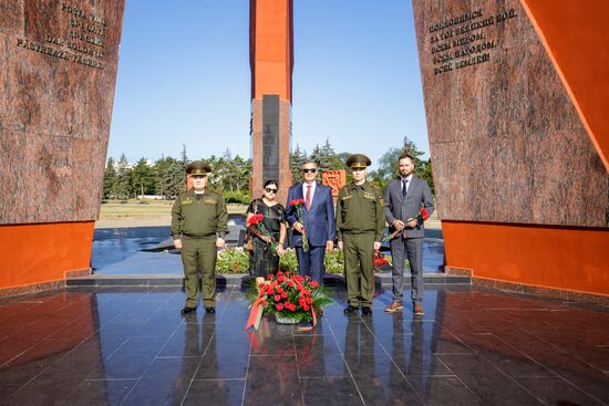
<path fill-rule="evenodd" d="M 601 405 L 609 310 L 468 285 L 429 287 L 425 315 L 342 313 L 312 332 L 218 293 L 179 315 L 178 289 L 70 289 L 0 301 L 2 405 Z"/>

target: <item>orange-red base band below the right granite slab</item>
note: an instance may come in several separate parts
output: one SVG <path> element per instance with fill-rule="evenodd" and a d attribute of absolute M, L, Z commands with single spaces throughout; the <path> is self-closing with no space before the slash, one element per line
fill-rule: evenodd
<path fill-rule="evenodd" d="M 609 231 L 443 220 L 446 266 L 473 277 L 609 295 Z"/>

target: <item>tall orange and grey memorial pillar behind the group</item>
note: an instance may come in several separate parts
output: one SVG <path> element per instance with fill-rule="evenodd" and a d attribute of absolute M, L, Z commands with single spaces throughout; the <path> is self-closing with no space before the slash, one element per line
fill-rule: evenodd
<path fill-rule="evenodd" d="M 292 1 L 250 1 L 251 194 L 279 180 L 278 200 L 291 186 Z"/>

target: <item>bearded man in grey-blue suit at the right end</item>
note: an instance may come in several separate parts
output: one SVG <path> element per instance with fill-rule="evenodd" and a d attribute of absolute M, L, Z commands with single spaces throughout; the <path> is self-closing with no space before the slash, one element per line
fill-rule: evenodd
<path fill-rule="evenodd" d="M 404 256 L 407 258 L 412 274 L 412 305 L 415 315 L 423 315 L 423 237 L 424 219 L 420 215 L 424 207 L 427 215 L 434 210 L 430 186 L 413 175 L 412 155 L 402 153 L 398 160 L 400 178 L 389 184 L 384 195 L 385 217 L 389 222 L 393 259 L 393 302 L 385 312 L 393 313 L 403 309 Z"/>

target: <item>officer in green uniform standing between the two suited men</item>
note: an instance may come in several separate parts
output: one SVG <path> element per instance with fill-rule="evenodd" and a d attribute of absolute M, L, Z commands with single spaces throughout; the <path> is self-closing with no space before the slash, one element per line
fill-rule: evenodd
<path fill-rule="evenodd" d="M 382 191 L 365 180 L 370 164 L 363 154 L 347 159 L 353 183 L 340 189 L 337 201 L 337 235 L 344 252 L 347 279 L 345 314 L 358 311 L 360 305 L 362 314 L 372 313 L 374 250 L 381 248 L 385 217 Z"/>

